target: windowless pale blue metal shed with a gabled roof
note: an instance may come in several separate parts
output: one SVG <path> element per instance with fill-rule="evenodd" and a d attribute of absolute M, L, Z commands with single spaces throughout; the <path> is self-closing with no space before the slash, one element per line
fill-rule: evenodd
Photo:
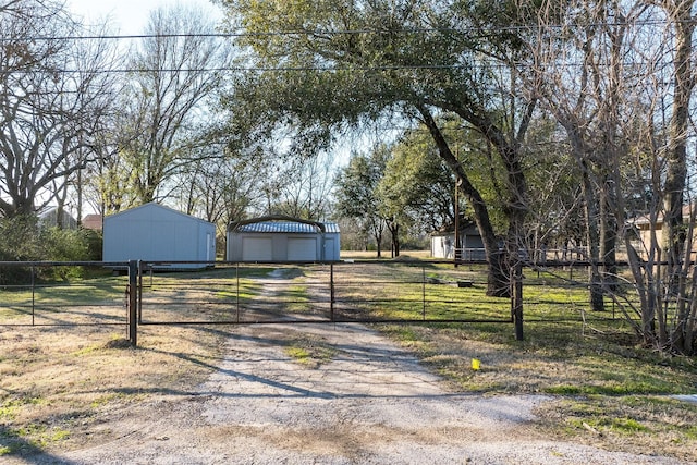
<path fill-rule="evenodd" d="M 105 261 L 216 260 L 216 225 L 150 203 L 103 220 Z M 206 268 L 207 264 L 173 264 L 168 268 Z"/>

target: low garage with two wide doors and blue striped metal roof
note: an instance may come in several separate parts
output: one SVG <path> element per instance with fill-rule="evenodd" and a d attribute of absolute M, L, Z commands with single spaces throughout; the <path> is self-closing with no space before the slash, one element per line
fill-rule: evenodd
<path fill-rule="evenodd" d="M 340 232 L 337 223 L 269 216 L 230 223 L 230 261 L 338 261 Z"/>

